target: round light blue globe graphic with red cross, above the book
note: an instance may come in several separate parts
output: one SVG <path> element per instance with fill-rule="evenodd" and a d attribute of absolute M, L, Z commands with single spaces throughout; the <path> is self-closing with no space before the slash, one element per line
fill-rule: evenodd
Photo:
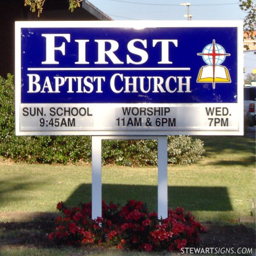
<path fill-rule="evenodd" d="M 214 44 L 215 46 L 215 54 L 223 54 L 223 55 L 215 55 L 215 65 L 220 65 L 226 58 L 225 54 L 225 49 L 220 45 L 220 44 Z M 213 65 L 213 57 L 212 54 L 213 52 L 213 44 L 208 44 L 206 47 L 203 49 L 203 60 L 206 64 L 208 65 Z"/>

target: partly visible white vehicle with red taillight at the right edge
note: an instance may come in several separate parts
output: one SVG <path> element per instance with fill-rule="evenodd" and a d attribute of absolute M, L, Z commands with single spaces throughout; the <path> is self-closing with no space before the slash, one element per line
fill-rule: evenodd
<path fill-rule="evenodd" d="M 244 86 L 244 125 L 256 125 L 256 87 Z"/>

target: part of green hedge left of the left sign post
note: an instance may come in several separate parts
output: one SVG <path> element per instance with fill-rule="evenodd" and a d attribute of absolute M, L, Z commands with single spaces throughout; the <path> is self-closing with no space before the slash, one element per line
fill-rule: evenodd
<path fill-rule="evenodd" d="M 89 136 L 15 136 L 13 76 L 0 77 L 0 155 L 29 163 L 90 161 Z"/>

